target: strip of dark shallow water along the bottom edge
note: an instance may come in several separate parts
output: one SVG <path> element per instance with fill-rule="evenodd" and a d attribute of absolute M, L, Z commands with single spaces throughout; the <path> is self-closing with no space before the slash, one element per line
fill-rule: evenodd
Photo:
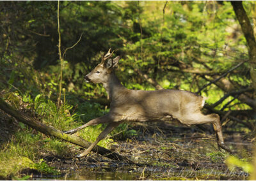
<path fill-rule="evenodd" d="M 33 180 L 247 180 L 248 173 L 237 170 L 212 169 L 193 170 L 189 168 L 160 167 L 140 168 L 136 171 L 70 171 L 66 175 L 34 175 Z"/>

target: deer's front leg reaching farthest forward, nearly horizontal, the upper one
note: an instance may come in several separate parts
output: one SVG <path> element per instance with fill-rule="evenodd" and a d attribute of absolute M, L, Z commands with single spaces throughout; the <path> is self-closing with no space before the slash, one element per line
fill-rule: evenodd
<path fill-rule="evenodd" d="M 109 114 L 106 114 L 102 117 L 97 117 L 95 119 L 92 119 L 89 122 L 87 122 L 86 124 L 83 124 L 82 126 L 76 127 L 74 129 L 70 129 L 68 131 L 63 131 L 63 133 L 74 134 L 77 131 L 83 129 L 84 127 L 93 126 L 93 125 L 97 125 L 97 124 L 100 124 L 100 123 L 106 123 L 106 122 L 111 122 L 111 121 L 112 121 L 112 119 L 110 118 Z"/>

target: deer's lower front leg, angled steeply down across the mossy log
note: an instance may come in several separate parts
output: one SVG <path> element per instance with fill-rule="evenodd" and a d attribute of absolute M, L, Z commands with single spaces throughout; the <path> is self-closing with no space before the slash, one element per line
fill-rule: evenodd
<path fill-rule="evenodd" d="M 97 143 L 99 143 L 100 140 L 106 138 L 106 136 L 113 131 L 113 129 L 115 129 L 116 126 L 118 126 L 119 124 L 121 124 L 122 121 L 119 122 L 111 122 L 108 124 L 108 126 L 104 129 L 104 131 L 102 131 L 98 138 L 96 139 L 96 141 L 94 141 L 92 143 L 92 145 L 90 145 L 90 147 L 88 147 L 83 153 L 79 154 L 77 157 L 83 157 L 83 156 L 87 156 L 90 151 L 92 150 L 93 147 L 95 147 L 95 145 L 97 145 Z"/>

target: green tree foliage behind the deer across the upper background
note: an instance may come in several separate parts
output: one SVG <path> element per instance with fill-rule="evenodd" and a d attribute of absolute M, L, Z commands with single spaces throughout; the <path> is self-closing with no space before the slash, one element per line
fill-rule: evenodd
<path fill-rule="evenodd" d="M 8 51 L 4 51 L 8 40 L 3 39 L 1 50 L 3 50 L 4 56 L 1 63 L 8 65 L 4 60 L 10 59 L 12 65 L 17 66 L 17 69 L 3 74 L 10 75 L 6 82 L 10 84 L 10 87 L 14 83 L 14 86 L 19 89 L 23 85 L 24 87 L 40 85 L 43 94 L 52 99 L 55 96 L 54 92 L 58 92 L 60 76 L 60 61 L 56 59 L 57 48 L 52 47 L 58 41 L 56 38 L 56 2 L 31 1 L 2 4 L 6 7 L 4 12 L 13 9 L 19 10 L 22 7 L 19 17 L 8 13 L 6 18 L 10 21 L 18 18 L 19 22 L 23 22 L 20 23 L 22 31 L 29 29 L 31 38 L 26 39 L 23 36 L 14 38 L 17 31 L 17 27 L 14 25 L 11 27 L 13 33 L 7 33 L 6 36 L 10 37 L 12 41 L 24 43 L 26 45 L 24 47 L 38 42 L 35 51 L 26 52 L 23 47 L 21 53 L 24 55 L 24 59 L 21 63 L 17 63 L 14 59 L 17 59 L 20 52 L 11 54 L 10 52 L 13 52 L 14 48 L 12 45 L 9 45 Z M 140 3 L 135 1 L 61 2 L 60 21 L 63 47 L 70 47 L 81 33 L 84 34 L 79 44 L 72 50 L 68 50 L 65 57 L 63 87 L 68 93 L 86 96 L 86 98 L 106 96 L 102 86 L 85 83 L 83 76 L 99 62 L 99 52 L 106 51 L 109 47 L 116 50 L 116 55 L 122 55 L 120 62 L 122 74 L 120 73 L 118 76 L 125 86 L 131 89 L 154 90 L 152 85 L 133 71 L 134 68 L 139 68 L 149 77 L 155 78 L 166 89 L 174 88 L 195 92 L 207 82 L 197 75 L 183 73 L 182 69 L 205 70 L 208 67 L 215 75 L 219 75 L 237 64 L 237 61 L 248 58 L 247 49 L 244 46 L 245 39 L 236 31 L 237 22 L 234 21 L 235 14 L 229 2 L 188 1 L 182 3 L 173 1 L 166 4 L 163 14 L 164 4 L 164 1 L 141 1 Z M 251 3 L 244 2 L 243 4 L 250 17 Z M 24 11 L 28 11 L 29 16 Z M 4 24 L 4 27 L 5 25 L 7 26 Z M 40 31 L 42 25 L 44 33 Z M 232 38 L 233 36 L 236 37 Z M 24 54 L 24 52 L 26 53 Z M 22 77 L 28 77 L 29 73 L 29 71 L 24 73 L 26 64 L 23 62 L 29 62 L 35 68 L 41 69 L 41 78 L 38 79 L 38 75 L 33 75 L 31 78 L 31 80 L 42 79 L 40 82 L 21 83 L 27 80 Z M 20 64 L 23 65 L 20 66 Z M 31 68 L 29 67 L 29 69 Z M 250 78 L 246 73 L 248 65 L 244 64 L 237 71 L 239 73 L 231 73 L 228 78 L 243 87 L 250 85 Z M 209 77 L 207 76 L 207 78 Z M 17 85 L 19 81 L 20 83 Z M 29 87 L 29 90 L 33 90 L 33 94 L 35 93 L 33 96 L 39 94 L 35 88 Z M 28 93 L 31 94 L 31 91 Z M 40 92 L 40 94 L 42 93 Z M 220 98 L 219 95 L 223 94 L 223 91 L 211 85 L 202 94 L 209 98 L 217 95 L 213 98 L 214 100 L 209 101 L 212 103 Z M 222 108 L 227 102 L 223 102 L 218 108 Z M 236 105 L 236 108 L 244 108 L 243 104 L 237 102 L 233 102 L 231 105 Z M 228 109 L 229 107 L 225 110 Z"/>

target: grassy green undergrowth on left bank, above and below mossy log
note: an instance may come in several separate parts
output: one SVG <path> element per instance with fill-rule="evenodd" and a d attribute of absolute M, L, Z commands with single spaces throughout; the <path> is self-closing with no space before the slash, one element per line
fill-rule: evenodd
<path fill-rule="evenodd" d="M 35 75 L 29 75 L 29 77 L 31 76 Z M 11 76 L 9 82 L 17 83 L 13 79 L 13 76 Z M 44 91 L 38 94 L 38 89 L 22 92 L 10 83 L 8 86 L 5 85 L 5 89 L 0 90 L 1 98 L 17 110 L 40 120 L 48 126 L 56 127 L 56 129 L 68 130 L 81 126 L 84 122 L 99 117 L 108 111 L 97 103 L 69 101 L 76 100 L 72 95 L 67 95 L 67 100 L 64 97 L 60 108 L 58 108 L 52 94 L 44 94 Z M 57 85 L 50 83 L 47 89 L 54 92 L 54 86 Z M 35 85 L 33 87 L 40 86 Z M 44 87 L 44 89 L 46 88 Z M 15 180 L 24 178 L 19 173 L 26 168 L 38 170 L 42 173 L 58 174 L 58 171 L 44 162 L 43 158 L 45 156 L 72 157 L 79 154 L 78 147 L 70 143 L 45 136 L 22 123 L 17 124 L 17 126 L 19 128 L 13 133 L 10 140 L 4 141 L 0 146 L 0 178 L 13 178 Z M 92 142 L 104 127 L 105 125 L 101 124 L 86 127 L 77 135 Z M 109 143 L 113 143 L 113 140 L 108 137 L 100 141 L 99 145 L 108 147 Z"/>

